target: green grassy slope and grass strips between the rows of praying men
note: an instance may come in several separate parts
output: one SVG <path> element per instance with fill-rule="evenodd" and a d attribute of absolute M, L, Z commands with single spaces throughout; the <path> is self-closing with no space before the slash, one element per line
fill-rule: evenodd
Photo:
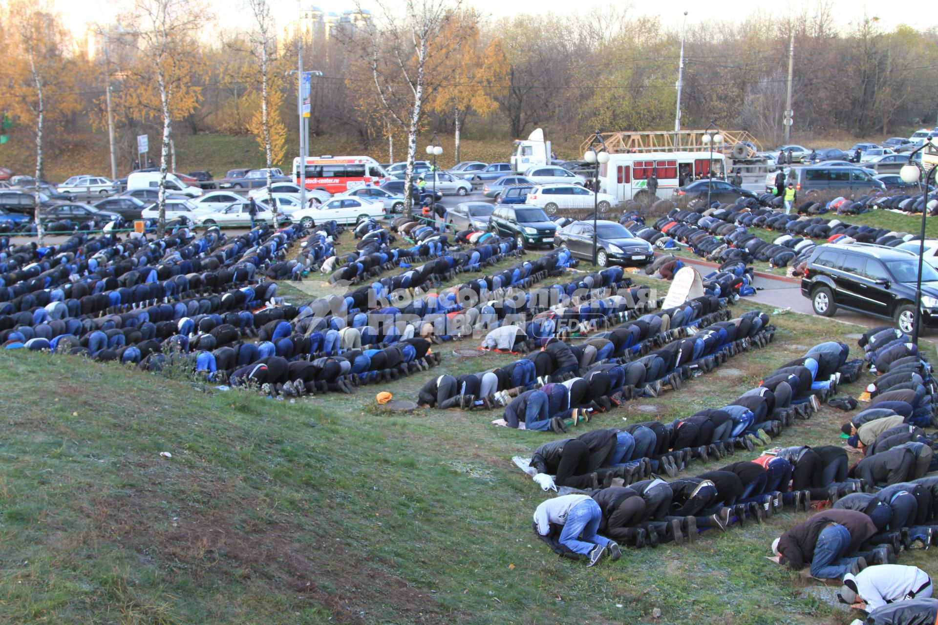
<path fill-rule="evenodd" d="M 309 297 L 300 287 L 285 289 L 290 299 Z M 809 346 L 855 345 L 847 335 L 860 331 L 796 314 L 773 322 L 767 349 L 583 429 L 717 408 Z M 180 372 L 0 352 L 0 621 L 849 621 L 832 588 L 764 558 L 805 514 L 693 546 L 627 550 L 593 569 L 554 556 L 531 531 L 547 495 L 510 458 L 555 435 L 492 426 L 495 412 L 388 414 L 374 401 L 381 390 L 416 398 L 443 371 L 513 358 L 451 352 L 469 346 L 436 346 L 441 367 L 386 386 L 296 401 L 219 391 Z M 835 443 L 843 420 L 824 409 L 781 442 Z M 902 561 L 938 573 L 924 552 Z"/>

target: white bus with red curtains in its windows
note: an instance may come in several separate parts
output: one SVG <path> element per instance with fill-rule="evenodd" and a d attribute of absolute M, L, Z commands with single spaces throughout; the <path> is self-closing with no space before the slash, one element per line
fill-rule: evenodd
<path fill-rule="evenodd" d="M 726 159 L 713 153 L 714 176 L 726 171 Z M 599 166 L 599 191 L 620 201 L 643 200 L 648 194 L 652 172 L 658 178 L 658 198 L 671 198 L 673 189 L 692 174 L 694 180 L 710 172 L 709 152 L 646 152 L 611 154 L 609 162 Z"/>

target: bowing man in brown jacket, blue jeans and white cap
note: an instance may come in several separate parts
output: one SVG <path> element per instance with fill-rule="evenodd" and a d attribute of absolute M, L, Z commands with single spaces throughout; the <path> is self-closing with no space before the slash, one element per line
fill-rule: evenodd
<path fill-rule="evenodd" d="M 816 513 L 807 521 L 783 533 L 772 543 L 779 564 L 795 571 L 810 565 L 811 576 L 818 579 L 842 579 L 847 573 L 859 573 L 866 567 L 866 556 L 885 561 L 888 547 L 872 554 L 857 553 L 860 545 L 879 531 L 870 517 L 854 510 L 828 510 Z"/>

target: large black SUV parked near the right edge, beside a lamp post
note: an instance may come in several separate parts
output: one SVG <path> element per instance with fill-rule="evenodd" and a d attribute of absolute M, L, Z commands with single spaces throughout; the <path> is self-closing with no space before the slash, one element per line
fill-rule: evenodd
<path fill-rule="evenodd" d="M 818 315 L 831 317 L 838 306 L 896 321 L 912 334 L 918 255 L 872 244 L 818 246 L 801 279 L 801 294 Z M 922 266 L 922 323 L 938 327 L 938 271 Z"/>

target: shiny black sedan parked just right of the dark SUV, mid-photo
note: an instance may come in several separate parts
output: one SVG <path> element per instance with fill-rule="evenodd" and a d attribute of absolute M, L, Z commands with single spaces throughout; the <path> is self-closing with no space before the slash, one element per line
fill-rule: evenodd
<path fill-rule="evenodd" d="M 593 232 L 592 221 L 574 221 L 557 231 L 553 245 L 567 246 L 573 256 L 592 261 Z M 638 238 L 616 221 L 597 221 L 596 233 L 596 256 L 600 267 L 605 267 L 610 262 L 646 265 L 655 257 L 651 244 Z"/>

